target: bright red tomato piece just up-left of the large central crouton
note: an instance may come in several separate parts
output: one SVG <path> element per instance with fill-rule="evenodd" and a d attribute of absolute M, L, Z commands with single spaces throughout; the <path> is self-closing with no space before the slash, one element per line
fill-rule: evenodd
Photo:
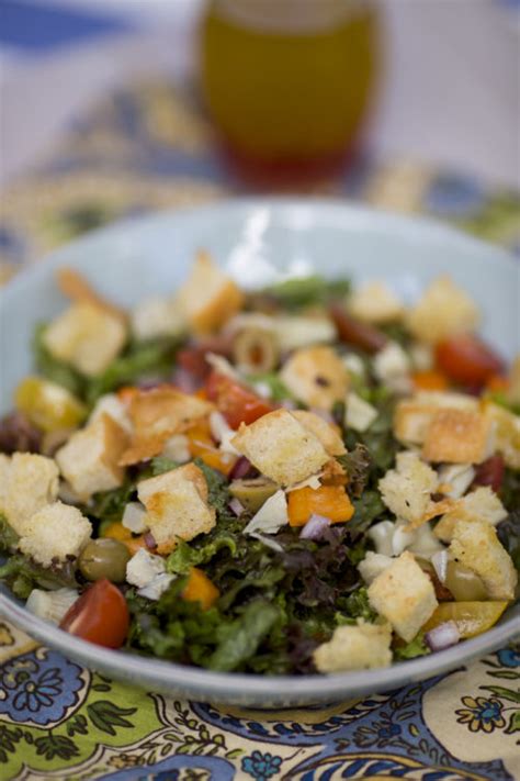
<path fill-rule="evenodd" d="M 240 423 L 249 425 L 276 409 L 265 399 L 261 399 L 248 388 L 217 371 L 210 375 L 206 393 L 231 428 L 238 428 Z"/>

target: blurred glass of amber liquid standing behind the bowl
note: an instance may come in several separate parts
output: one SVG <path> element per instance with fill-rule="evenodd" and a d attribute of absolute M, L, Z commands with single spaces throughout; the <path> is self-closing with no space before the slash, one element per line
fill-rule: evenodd
<path fill-rule="evenodd" d="M 202 23 L 202 90 L 242 171 L 324 174 L 352 153 L 373 94 L 371 0 L 212 0 Z"/>

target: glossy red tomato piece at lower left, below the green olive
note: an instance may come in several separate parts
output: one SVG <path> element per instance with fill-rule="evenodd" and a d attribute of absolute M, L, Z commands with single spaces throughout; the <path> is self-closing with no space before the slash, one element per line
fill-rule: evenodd
<path fill-rule="evenodd" d="M 126 600 L 110 580 L 98 580 L 68 610 L 59 627 L 105 648 L 121 648 L 128 634 Z"/>

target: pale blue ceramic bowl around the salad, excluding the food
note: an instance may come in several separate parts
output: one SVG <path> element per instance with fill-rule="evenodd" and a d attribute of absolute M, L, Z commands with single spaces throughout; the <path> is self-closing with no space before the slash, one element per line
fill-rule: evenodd
<path fill-rule="evenodd" d="M 197 248 L 246 287 L 307 271 L 384 279 L 414 300 L 440 274 L 473 295 L 483 334 L 508 358 L 520 349 L 520 265 L 506 253 L 432 222 L 324 200 L 240 200 L 160 213 L 95 232 L 16 277 L 0 298 L 0 410 L 11 406 L 19 380 L 31 370 L 34 324 L 65 305 L 54 270 L 84 272 L 122 305 L 173 291 Z M 111 651 L 84 643 L 31 614 L 0 588 L 0 614 L 42 643 L 112 678 L 199 701 L 251 707 L 330 703 L 393 689 L 453 669 L 510 640 L 520 607 L 510 607 L 490 632 L 460 646 L 391 668 L 317 677 L 217 673 Z"/>

